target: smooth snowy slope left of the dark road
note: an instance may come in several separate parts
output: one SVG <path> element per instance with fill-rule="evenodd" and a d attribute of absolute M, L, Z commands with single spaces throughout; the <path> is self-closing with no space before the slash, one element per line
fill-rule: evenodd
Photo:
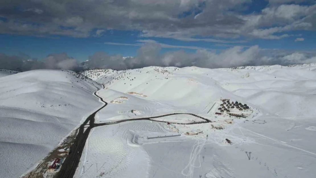
<path fill-rule="evenodd" d="M 27 71 L 0 83 L 1 178 L 31 169 L 101 105 L 92 95 L 101 85 L 72 71 Z"/>

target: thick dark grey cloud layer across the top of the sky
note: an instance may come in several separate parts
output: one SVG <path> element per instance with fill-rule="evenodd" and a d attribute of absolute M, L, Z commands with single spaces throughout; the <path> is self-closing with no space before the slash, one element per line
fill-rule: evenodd
<path fill-rule="evenodd" d="M 243 14 L 252 0 L 4 0 L 0 33 L 99 37 L 130 29 L 146 37 L 279 39 L 291 30 L 315 30 L 315 1 L 300 2 L 269 0 L 261 12 Z"/>

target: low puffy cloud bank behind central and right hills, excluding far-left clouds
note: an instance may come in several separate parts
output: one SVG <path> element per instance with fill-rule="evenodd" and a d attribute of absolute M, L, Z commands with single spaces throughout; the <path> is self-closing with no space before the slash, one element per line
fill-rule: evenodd
<path fill-rule="evenodd" d="M 137 56 L 134 58 L 98 53 L 89 58 L 86 67 L 102 66 L 124 70 L 151 65 L 176 67 L 194 65 L 204 68 L 221 68 L 244 65 L 288 65 L 316 62 L 316 53 L 261 49 L 259 46 L 247 48 L 234 46 L 222 51 L 199 49 L 195 53 L 178 50 L 163 54 L 160 53 L 161 48 L 162 46 L 159 43 L 146 43 L 137 51 Z"/>

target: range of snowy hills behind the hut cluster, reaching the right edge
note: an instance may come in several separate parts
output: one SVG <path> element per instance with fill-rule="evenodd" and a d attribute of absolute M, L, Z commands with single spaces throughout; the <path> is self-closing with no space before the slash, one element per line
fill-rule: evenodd
<path fill-rule="evenodd" d="M 271 115 L 300 117 L 316 114 L 313 108 L 316 104 L 315 70 L 314 64 L 302 64 L 230 69 L 92 69 L 82 71 L 81 74 L 104 83 L 114 91 L 125 94 L 136 92 L 175 107 L 192 107 L 196 112 L 200 112 L 210 101 L 228 97 L 247 101 Z"/>

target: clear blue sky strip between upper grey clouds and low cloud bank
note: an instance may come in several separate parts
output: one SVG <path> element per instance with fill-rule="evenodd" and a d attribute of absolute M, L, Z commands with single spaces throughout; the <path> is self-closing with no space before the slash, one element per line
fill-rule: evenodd
<path fill-rule="evenodd" d="M 0 52 L 15 55 L 18 53 L 27 54 L 33 58 L 42 59 L 50 53 L 67 52 L 67 54 L 78 61 L 85 61 L 89 55 L 97 51 L 104 51 L 108 54 L 121 54 L 122 56 L 136 56 L 137 49 L 140 46 L 127 45 L 109 45 L 111 43 L 138 44 L 137 40 L 155 40 L 159 43 L 174 46 L 196 46 L 201 49 L 216 49 L 218 51 L 230 48 L 235 45 L 253 46 L 259 45 L 261 48 L 270 49 L 289 49 L 289 50 L 315 50 L 316 35 L 310 31 L 297 31 L 293 34 L 301 34 L 299 37 L 304 41 L 295 41 L 297 37 L 288 37 L 279 40 L 266 39 L 242 39 L 243 43 L 214 43 L 205 41 L 181 41 L 170 38 L 143 38 L 139 37 L 137 31 L 119 31 L 112 30 L 104 34 L 102 37 L 74 38 L 67 36 L 54 37 L 36 37 L 29 35 L 11 35 L 0 34 L 2 43 L 0 43 Z M 235 39 L 234 39 L 235 40 Z M 232 41 L 234 41 L 232 40 Z M 240 39 L 239 39 L 240 40 Z M 222 45 L 222 46 L 221 46 Z M 229 46 L 225 46 L 229 45 Z M 184 50 L 187 52 L 195 52 L 195 49 L 184 48 L 163 48 L 161 53 L 170 50 Z"/>

